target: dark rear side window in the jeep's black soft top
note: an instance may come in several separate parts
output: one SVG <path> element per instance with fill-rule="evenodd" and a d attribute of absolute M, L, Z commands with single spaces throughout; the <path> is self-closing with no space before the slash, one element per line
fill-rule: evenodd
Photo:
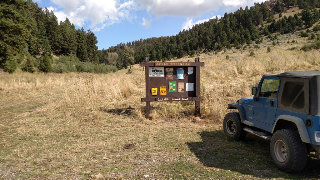
<path fill-rule="evenodd" d="M 302 81 L 287 81 L 284 84 L 281 104 L 293 108 L 304 108 L 304 83 Z"/>

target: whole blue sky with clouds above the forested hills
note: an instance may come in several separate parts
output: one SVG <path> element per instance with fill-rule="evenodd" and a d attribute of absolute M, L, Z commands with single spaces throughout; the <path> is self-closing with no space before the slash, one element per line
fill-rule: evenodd
<path fill-rule="evenodd" d="M 90 29 L 98 49 L 149 37 L 173 36 L 225 12 L 235 12 L 259 0 L 33 0 L 53 11 L 58 21 L 68 17 L 76 29 Z"/>

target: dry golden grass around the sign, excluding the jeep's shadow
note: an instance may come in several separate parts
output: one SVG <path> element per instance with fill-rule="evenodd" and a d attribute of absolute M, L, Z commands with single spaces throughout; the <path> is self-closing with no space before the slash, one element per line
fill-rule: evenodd
<path fill-rule="evenodd" d="M 139 65 L 131 74 L 0 72 L 0 168 L 11 167 L 20 179 L 62 179 L 78 168 L 88 179 L 97 169 L 144 173 L 149 157 L 179 160 L 175 153 L 181 149 L 194 156 L 185 142 L 201 141 L 197 132 L 205 128 L 219 130 L 228 103 L 251 96 L 263 74 L 320 70 L 317 50 L 271 48 L 252 57 L 229 54 L 229 60 L 201 55 L 201 118 L 193 116 L 194 102 L 151 102 L 151 119 L 145 119 L 145 72 Z M 135 149 L 123 150 L 127 143 Z"/>

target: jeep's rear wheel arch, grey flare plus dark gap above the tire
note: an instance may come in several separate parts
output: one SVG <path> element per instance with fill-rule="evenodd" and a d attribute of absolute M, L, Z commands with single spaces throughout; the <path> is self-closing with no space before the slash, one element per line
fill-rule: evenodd
<path fill-rule="evenodd" d="M 284 128 L 283 124 L 286 122 L 286 126 Z M 307 128 L 302 119 L 290 115 L 280 115 L 276 119 L 275 126 L 273 126 L 272 134 L 280 129 L 292 129 L 295 127 L 298 129 L 300 134 L 300 138 L 304 143 L 311 143 Z"/>

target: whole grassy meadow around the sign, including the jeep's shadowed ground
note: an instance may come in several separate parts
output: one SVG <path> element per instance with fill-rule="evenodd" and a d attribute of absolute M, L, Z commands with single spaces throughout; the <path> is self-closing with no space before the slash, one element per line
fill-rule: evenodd
<path fill-rule="evenodd" d="M 314 153 L 302 172 L 287 174 L 272 162 L 268 141 L 223 133 L 227 104 L 251 96 L 263 74 L 320 70 L 319 50 L 299 50 L 307 38 L 277 41 L 200 54 L 201 118 L 194 102 L 151 102 L 145 119 L 140 65 L 132 74 L 0 72 L 0 180 L 320 179 Z"/>

